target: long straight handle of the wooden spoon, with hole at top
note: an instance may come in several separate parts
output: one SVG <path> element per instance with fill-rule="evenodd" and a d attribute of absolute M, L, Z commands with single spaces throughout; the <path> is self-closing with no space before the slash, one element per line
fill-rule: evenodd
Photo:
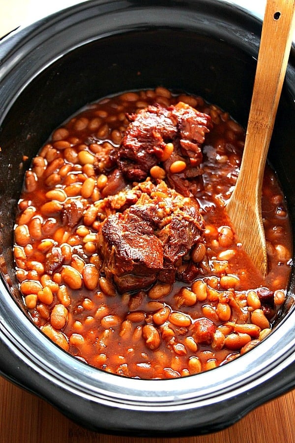
<path fill-rule="evenodd" d="M 262 178 L 275 115 L 290 54 L 295 22 L 295 0 L 268 0 L 257 61 L 245 150 L 241 163 L 243 180 L 255 184 L 261 194 Z M 293 20 L 290 21 L 290 18 Z M 268 75 L 269 73 L 269 75 Z M 248 134 L 251 134 L 248 144 Z M 248 145 L 248 146 L 246 146 Z M 256 149 L 256 146 L 263 146 Z M 254 196 L 254 193 L 253 193 Z"/>

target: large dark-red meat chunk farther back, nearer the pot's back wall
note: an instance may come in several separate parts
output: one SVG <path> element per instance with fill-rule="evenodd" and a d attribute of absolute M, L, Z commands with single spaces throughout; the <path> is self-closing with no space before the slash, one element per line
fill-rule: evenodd
<path fill-rule="evenodd" d="M 130 120 L 118 150 L 118 165 L 126 179 L 143 181 L 151 167 L 161 164 L 172 188 L 183 195 L 196 195 L 203 187 L 201 145 L 212 126 L 210 117 L 180 102 L 169 108 L 148 106 Z M 168 143 L 173 143 L 174 152 L 167 159 Z M 186 167 L 171 173 L 170 166 L 176 160 L 184 161 Z"/>

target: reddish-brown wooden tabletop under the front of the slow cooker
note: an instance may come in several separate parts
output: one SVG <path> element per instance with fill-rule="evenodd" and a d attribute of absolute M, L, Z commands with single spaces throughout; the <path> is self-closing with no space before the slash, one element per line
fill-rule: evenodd
<path fill-rule="evenodd" d="M 45 401 L 0 378 L 0 443 L 293 443 L 295 391 L 214 434 L 184 438 L 118 437 L 88 431 Z"/>

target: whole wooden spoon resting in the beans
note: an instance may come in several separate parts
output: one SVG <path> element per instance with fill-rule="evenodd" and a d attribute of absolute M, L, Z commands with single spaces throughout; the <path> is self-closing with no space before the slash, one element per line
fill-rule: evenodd
<path fill-rule="evenodd" d="M 294 24 L 295 0 L 267 0 L 244 152 L 235 189 L 226 205 L 236 238 L 264 278 L 267 254 L 262 183 Z"/>

